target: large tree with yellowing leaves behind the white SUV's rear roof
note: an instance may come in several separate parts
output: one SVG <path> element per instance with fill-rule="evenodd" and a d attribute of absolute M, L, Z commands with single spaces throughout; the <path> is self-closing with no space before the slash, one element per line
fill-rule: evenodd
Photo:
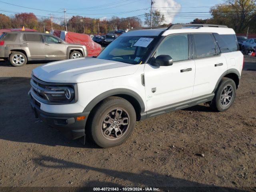
<path fill-rule="evenodd" d="M 225 0 L 210 9 L 212 24 L 222 24 L 237 33 L 246 31 L 248 24 L 256 19 L 256 0 Z"/>

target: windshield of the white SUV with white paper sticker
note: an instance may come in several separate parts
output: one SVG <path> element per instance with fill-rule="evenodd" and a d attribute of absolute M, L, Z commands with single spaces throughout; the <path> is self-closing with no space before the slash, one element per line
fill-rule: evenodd
<path fill-rule="evenodd" d="M 155 37 L 120 36 L 110 43 L 97 58 L 139 64 L 147 57 Z"/>

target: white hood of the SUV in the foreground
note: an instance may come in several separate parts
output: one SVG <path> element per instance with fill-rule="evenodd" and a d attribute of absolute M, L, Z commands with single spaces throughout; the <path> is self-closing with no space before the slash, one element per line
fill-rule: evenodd
<path fill-rule="evenodd" d="M 32 70 L 36 78 L 44 82 L 82 83 L 134 74 L 138 65 L 123 62 L 78 58 L 51 62 Z"/>

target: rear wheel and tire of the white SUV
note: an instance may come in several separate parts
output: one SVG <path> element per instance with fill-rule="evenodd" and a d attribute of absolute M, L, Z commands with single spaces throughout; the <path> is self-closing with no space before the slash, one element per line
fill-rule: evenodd
<path fill-rule="evenodd" d="M 235 82 L 230 78 L 223 78 L 215 91 L 215 96 L 210 106 L 213 110 L 224 112 L 232 106 L 235 96 Z"/>

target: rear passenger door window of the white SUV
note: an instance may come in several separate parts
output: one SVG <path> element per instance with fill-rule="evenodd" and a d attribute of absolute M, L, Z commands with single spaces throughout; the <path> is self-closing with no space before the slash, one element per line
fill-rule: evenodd
<path fill-rule="evenodd" d="M 216 44 L 211 34 L 194 34 L 196 58 L 210 57 L 217 54 Z"/>

